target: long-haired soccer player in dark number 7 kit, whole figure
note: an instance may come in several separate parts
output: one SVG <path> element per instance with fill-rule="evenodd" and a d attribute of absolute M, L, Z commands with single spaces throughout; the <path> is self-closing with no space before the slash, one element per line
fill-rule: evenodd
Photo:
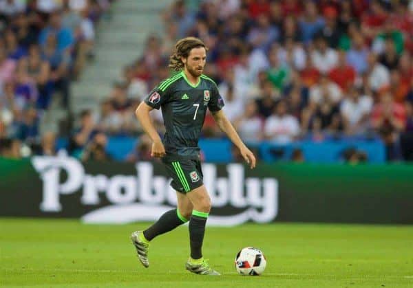
<path fill-rule="evenodd" d="M 178 197 L 178 208 L 163 214 L 147 230 L 131 234 L 138 258 L 145 267 L 149 267 L 149 242 L 189 221 L 191 256 L 185 265 L 186 269 L 195 274 L 220 275 L 202 257 L 211 199 L 202 183 L 198 139 L 207 109 L 220 129 L 240 149 L 249 166 L 255 167 L 253 153 L 244 145 L 222 111 L 224 101 L 217 85 L 202 74 L 206 58 L 207 47 L 200 39 L 187 37 L 178 41 L 170 57 L 169 67 L 180 73 L 160 82 L 136 109 L 136 117 L 153 142 L 151 156 L 162 158 Z M 152 109 L 160 107 L 166 128 L 163 141 L 149 116 Z"/>

